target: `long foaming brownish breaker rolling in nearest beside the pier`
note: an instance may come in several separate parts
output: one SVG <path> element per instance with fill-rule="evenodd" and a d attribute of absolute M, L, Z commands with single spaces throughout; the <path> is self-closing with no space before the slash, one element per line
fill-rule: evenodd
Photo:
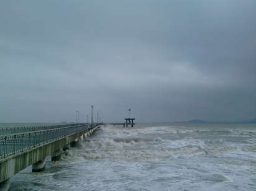
<path fill-rule="evenodd" d="M 184 140 L 183 144 L 187 140 Z M 66 158 L 73 159 L 171 159 L 180 156 L 197 156 L 199 154 L 216 154 L 233 151 L 237 148 L 223 146 L 219 144 L 202 145 L 187 144 L 171 147 L 163 146 L 164 140 L 160 139 L 109 139 L 87 140 L 82 142 L 82 149 L 68 151 Z M 174 141 L 175 142 L 175 141 Z M 191 141 L 192 143 L 193 141 Z M 157 144 L 158 143 L 158 144 Z M 189 142 L 187 142 L 189 143 Z M 156 144 L 156 145 L 155 145 Z M 165 143 L 164 145 L 168 144 Z M 65 158 L 64 157 L 64 158 Z"/>

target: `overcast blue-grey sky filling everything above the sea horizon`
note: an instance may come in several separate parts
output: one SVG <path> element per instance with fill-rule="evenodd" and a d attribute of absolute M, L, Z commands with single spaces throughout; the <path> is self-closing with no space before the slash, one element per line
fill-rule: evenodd
<path fill-rule="evenodd" d="M 256 117 L 255 0 L 0 1 L 0 122 Z"/>

